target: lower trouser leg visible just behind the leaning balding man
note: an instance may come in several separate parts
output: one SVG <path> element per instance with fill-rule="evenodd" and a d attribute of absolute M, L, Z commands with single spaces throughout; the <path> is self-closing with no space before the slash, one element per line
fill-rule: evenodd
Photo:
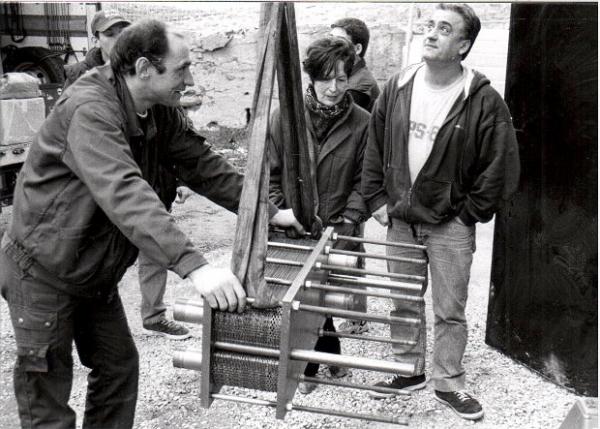
<path fill-rule="evenodd" d="M 144 325 L 158 322 L 166 317 L 164 302 L 167 289 L 167 270 L 140 252 L 138 278 L 142 295 L 142 322 Z"/>

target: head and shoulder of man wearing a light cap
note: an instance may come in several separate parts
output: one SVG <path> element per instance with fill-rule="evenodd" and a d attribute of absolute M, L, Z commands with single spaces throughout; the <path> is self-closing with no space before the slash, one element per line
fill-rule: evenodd
<path fill-rule="evenodd" d="M 90 26 L 96 46 L 89 50 L 83 61 L 65 66 L 65 88 L 85 72 L 105 64 L 117 37 L 129 25 L 131 25 L 131 22 L 122 16 L 107 16 L 102 10 L 96 12 Z"/>

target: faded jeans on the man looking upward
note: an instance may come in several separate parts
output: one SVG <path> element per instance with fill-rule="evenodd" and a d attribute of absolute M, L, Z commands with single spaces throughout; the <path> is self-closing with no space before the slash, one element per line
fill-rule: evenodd
<path fill-rule="evenodd" d="M 435 390 L 456 391 L 465 387 L 465 370 L 462 358 L 467 344 L 467 304 L 469 277 L 473 252 L 475 251 L 475 226 L 465 226 L 456 218 L 449 222 L 409 225 L 392 219 L 388 227 L 388 241 L 423 244 L 427 250 L 387 247 L 387 254 L 426 259 L 428 264 L 388 262 L 388 270 L 424 276 L 427 265 L 431 271 L 431 296 L 433 302 L 434 345 L 431 381 Z M 423 284 L 420 295 L 427 289 Z M 414 346 L 394 345 L 395 358 L 415 363 L 414 375 L 425 372 L 426 324 L 425 303 L 393 300 L 394 316 L 414 317 L 421 320 L 419 326 L 392 325 L 394 339 L 411 339 Z"/>

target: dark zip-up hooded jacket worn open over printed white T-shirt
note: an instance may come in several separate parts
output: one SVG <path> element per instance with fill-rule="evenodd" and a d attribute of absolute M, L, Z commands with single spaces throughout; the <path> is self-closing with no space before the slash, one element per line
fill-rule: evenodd
<path fill-rule="evenodd" d="M 438 131 L 431 154 L 411 183 L 408 128 L 414 75 L 393 76 L 369 124 L 362 191 L 371 212 L 387 204 L 392 218 L 439 224 L 458 216 L 466 225 L 489 221 L 516 190 L 519 153 L 508 108 L 489 80 L 467 70 L 464 91 Z"/>

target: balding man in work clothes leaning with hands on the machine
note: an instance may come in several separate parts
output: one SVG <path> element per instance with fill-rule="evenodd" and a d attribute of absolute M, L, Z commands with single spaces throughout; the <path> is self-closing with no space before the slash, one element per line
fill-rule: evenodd
<path fill-rule="evenodd" d="M 0 249 L 23 427 L 75 427 L 73 341 L 91 370 L 83 427 L 133 426 L 139 359 L 117 283 L 138 249 L 190 279 L 212 308 L 244 309 L 237 278 L 207 263 L 157 196 L 162 166 L 223 207 L 239 205 L 242 176 L 180 110 L 190 65 L 182 36 L 140 21 L 110 65 L 67 88 L 34 138 Z M 291 210 L 269 212 L 271 223 L 299 227 Z"/>

